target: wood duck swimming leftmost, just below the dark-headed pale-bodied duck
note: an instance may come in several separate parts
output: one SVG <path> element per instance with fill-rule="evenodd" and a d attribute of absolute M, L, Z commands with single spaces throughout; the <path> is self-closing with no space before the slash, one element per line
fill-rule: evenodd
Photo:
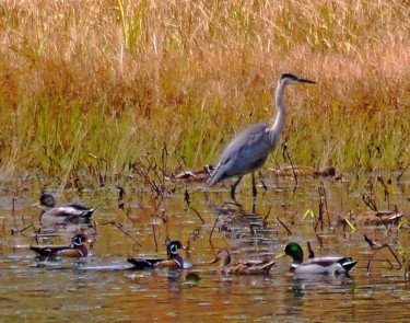
<path fill-rule="evenodd" d="M 89 255 L 86 241 L 85 233 L 77 233 L 69 245 L 32 245 L 30 249 L 38 254 L 38 262 L 58 261 L 60 256 L 83 258 Z"/>

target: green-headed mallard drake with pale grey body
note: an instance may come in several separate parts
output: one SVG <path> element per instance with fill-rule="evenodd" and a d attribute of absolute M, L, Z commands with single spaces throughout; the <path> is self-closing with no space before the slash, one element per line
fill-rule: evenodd
<path fill-rule="evenodd" d="M 294 274 L 348 274 L 358 263 L 351 257 L 315 257 L 311 249 L 309 258 L 304 262 L 303 250 L 295 242 L 291 242 L 285 246 L 284 255 L 291 256 L 293 258 L 290 272 Z"/>

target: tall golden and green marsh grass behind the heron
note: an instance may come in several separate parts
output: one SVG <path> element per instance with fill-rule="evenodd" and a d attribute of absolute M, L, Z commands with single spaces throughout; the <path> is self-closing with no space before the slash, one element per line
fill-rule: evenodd
<path fill-rule="evenodd" d="M 3 1 L 1 169 L 126 174 L 164 147 L 172 170 L 213 163 L 235 131 L 272 120 L 277 79 L 293 72 L 317 81 L 286 91 L 294 163 L 397 170 L 409 16 L 387 0 Z"/>

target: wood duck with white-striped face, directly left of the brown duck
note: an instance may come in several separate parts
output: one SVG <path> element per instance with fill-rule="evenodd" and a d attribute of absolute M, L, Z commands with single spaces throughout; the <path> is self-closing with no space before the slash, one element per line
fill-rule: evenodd
<path fill-rule="evenodd" d="M 161 258 L 128 258 L 127 262 L 133 265 L 132 269 L 150 269 L 150 268 L 169 268 L 184 269 L 185 263 L 178 254 L 178 249 L 184 249 L 179 241 L 171 241 L 167 239 L 166 243 L 166 259 Z"/>

